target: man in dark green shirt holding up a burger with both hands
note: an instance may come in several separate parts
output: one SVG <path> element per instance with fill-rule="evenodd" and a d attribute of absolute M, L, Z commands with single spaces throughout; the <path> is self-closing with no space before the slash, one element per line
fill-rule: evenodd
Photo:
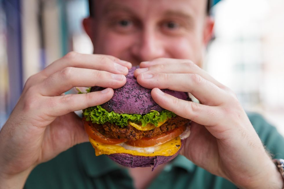
<path fill-rule="evenodd" d="M 28 79 L 0 133 L 1 188 L 21 188 L 29 175 L 26 188 L 283 188 L 252 123 L 278 158 L 284 155 L 283 137 L 259 116 L 249 119 L 234 93 L 199 67 L 214 25 L 207 1 L 92 2 L 94 12 L 83 25 L 95 55 L 68 53 Z M 135 76 L 152 89 L 155 102 L 193 121 L 181 152 L 185 157 L 153 172 L 94 157 L 88 143 L 74 146 L 88 137 L 73 111 L 110 100 L 131 67 L 123 60 L 140 64 Z M 61 95 L 94 85 L 106 89 Z M 191 92 L 201 104 L 162 88 Z M 47 163 L 37 166 L 42 162 Z"/>

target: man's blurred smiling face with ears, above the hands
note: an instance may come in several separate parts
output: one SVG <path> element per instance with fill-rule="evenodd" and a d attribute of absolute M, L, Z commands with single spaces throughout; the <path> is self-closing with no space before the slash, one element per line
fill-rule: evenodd
<path fill-rule="evenodd" d="M 205 13 L 206 3 L 206 0 L 96 1 L 94 18 L 86 19 L 84 26 L 95 54 L 116 56 L 133 65 L 165 57 L 190 59 L 201 66 L 203 49 L 213 27 Z"/>

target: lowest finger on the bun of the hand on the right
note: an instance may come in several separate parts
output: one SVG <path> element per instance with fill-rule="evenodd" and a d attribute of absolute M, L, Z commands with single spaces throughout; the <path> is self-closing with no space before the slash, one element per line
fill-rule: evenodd
<path fill-rule="evenodd" d="M 216 125 L 219 117 L 217 107 L 197 104 L 195 102 L 181 100 L 164 93 L 158 88 L 151 92 L 153 100 L 162 108 L 174 112 L 183 118 L 187 118 L 202 125 Z M 220 115 L 220 114 L 219 114 Z"/>

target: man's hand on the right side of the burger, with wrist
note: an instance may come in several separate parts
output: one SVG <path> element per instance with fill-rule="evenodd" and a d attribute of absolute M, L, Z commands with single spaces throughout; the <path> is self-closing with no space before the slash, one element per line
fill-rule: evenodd
<path fill-rule="evenodd" d="M 140 67 L 134 76 L 140 85 L 152 89 L 154 101 L 192 120 L 181 154 L 241 188 L 283 188 L 280 174 L 229 88 L 190 60 L 158 58 Z M 190 92 L 201 104 L 160 89 Z"/>

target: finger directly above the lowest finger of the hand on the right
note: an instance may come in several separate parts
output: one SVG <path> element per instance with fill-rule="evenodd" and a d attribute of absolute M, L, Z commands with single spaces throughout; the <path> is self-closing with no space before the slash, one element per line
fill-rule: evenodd
<path fill-rule="evenodd" d="M 171 89 L 174 91 L 190 92 L 202 104 L 218 106 L 227 98 L 228 94 L 197 74 L 146 74 L 137 76 L 137 82 L 145 88 Z M 222 98 L 220 98 L 222 96 Z"/>

